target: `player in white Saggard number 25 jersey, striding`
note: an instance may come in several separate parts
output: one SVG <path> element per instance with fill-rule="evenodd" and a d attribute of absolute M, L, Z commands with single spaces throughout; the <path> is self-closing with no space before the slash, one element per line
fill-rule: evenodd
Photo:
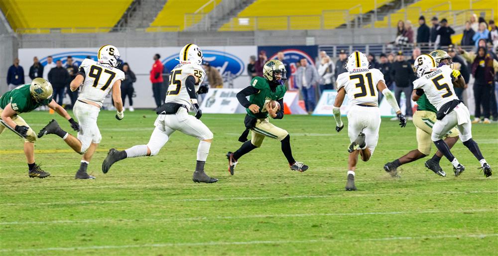
<path fill-rule="evenodd" d="M 173 132 L 179 130 L 198 138 L 197 164 L 192 176 L 194 182 L 214 183 L 218 179 L 209 177 L 204 172 L 204 164 L 208 158 L 209 148 L 213 141 L 213 132 L 199 119 L 202 112 L 197 103 L 196 93 L 207 93 L 207 86 L 202 84 L 206 73 L 201 67 L 203 55 L 199 46 L 187 44 L 180 51 L 180 64 L 169 75 L 168 93 L 165 103 L 157 108 L 159 115 L 154 123 L 154 131 L 146 145 L 135 145 L 123 151 L 112 148 L 102 163 L 102 171 L 107 173 L 111 166 L 124 158 L 153 156 L 168 142 Z M 195 117 L 188 114 L 190 107 Z"/>

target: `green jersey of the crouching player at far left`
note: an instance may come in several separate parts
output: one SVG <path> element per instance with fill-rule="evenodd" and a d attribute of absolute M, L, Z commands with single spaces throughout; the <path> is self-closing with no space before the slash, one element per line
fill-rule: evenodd
<path fill-rule="evenodd" d="M 36 102 L 29 92 L 31 84 L 25 84 L 6 92 L 0 98 L 0 108 L 4 109 L 10 103 L 12 109 L 17 114 L 26 113 L 43 106 L 43 102 Z"/>

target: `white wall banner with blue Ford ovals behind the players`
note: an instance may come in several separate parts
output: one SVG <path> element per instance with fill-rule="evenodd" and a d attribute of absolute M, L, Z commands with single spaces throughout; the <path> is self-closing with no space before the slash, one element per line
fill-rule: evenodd
<path fill-rule="evenodd" d="M 201 46 L 202 47 L 202 46 Z M 179 51 L 182 47 L 119 47 L 123 62 L 127 62 L 130 70 L 135 73 L 136 82 L 133 98 L 134 108 L 155 108 L 152 84 L 149 80 L 149 73 L 153 64 L 153 56 L 161 55 L 161 62 L 167 72 L 178 64 L 175 60 L 179 58 Z M 25 81 L 30 82 L 28 77 L 29 67 L 33 64 L 33 57 L 38 57 L 42 65 L 46 65 L 47 57 L 52 56 L 54 61 L 62 60 L 66 64 L 67 56 L 72 56 L 79 65 L 85 58 L 90 57 L 97 60 L 98 48 L 21 48 L 18 51 L 20 65 L 24 67 Z M 207 46 L 202 47 L 204 60 L 216 67 L 225 81 L 225 88 L 244 88 L 249 85 L 250 79 L 247 76 L 247 64 L 249 56 L 256 55 L 256 46 Z M 165 84 L 167 81 L 165 82 Z M 106 105 L 110 105 L 108 99 Z M 64 103 L 69 103 L 67 97 Z M 125 101 L 125 107 L 128 101 Z"/>

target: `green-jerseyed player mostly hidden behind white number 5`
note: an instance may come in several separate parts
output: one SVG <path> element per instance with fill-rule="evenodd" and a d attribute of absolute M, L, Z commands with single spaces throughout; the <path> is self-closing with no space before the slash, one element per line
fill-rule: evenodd
<path fill-rule="evenodd" d="M 431 52 L 430 55 L 434 57 L 438 66 L 451 66 L 452 64 L 451 56 L 443 50 L 435 50 Z M 453 70 L 451 76 L 455 87 L 463 88 L 465 86 L 465 81 L 458 70 Z M 391 176 L 397 176 L 397 167 L 424 158 L 430 154 L 431 145 L 433 143 L 431 140 L 432 126 L 434 126 L 434 123 L 436 122 L 436 113 L 436 108 L 429 103 L 425 94 L 422 94 L 417 100 L 417 111 L 413 115 L 413 124 L 417 128 L 418 147 L 401 156 L 399 159 L 384 164 L 384 170 Z M 448 144 L 449 148 L 452 148 L 459 138 L 458 129 L 451 129 L 445 137 L 444 141 Z M 443 153 L 438 150 L 431 159 L 425 162 L 425 167 L 429 168 L 437 175 L 446 176 L 446 173 L 439 165 L 442 156 Z"/>

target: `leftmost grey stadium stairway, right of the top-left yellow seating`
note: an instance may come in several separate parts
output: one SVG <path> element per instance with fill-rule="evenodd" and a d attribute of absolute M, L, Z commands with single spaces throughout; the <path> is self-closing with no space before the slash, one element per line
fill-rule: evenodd
<path fill-rule="evenodd" d="M 133 0 L 113 30 L 149 27 L 166 2 L 167 0 Z"/>

